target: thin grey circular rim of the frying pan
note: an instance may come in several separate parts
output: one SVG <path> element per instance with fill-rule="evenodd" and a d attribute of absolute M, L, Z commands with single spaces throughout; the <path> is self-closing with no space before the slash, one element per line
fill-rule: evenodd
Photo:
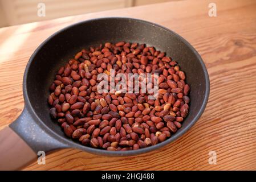
<path fill-rule="evenodd" d="M 135 22 L 140 22 L 140 23 L 145 23 L 145 24 L 149 24 L 151 26 L 156 26 L 161 28 L 162 30 L 168 31 L 170 34 L 172 34 L 173 36 L 176 36 L 182 43 L 184 43 L 186 46 L 188 46 L 189 49 L 191 49 L 194 53 L 194 55 L 197 57 L 198 61 L 201 64 L 201 67 L 204 71 L 204 76 L 205 76 L 205 85 L 206 85 L 206 90 L 205 90 L 205 96 L 204 96 L 204 100 L 202 102 L 202 105 L 200 107 L 200 110 L 198 111 L 198 113 L 196 114 L 196 116 L 190 121 L 190 123 L 183 128 L 182 131 L 180 131 L 180 133 L 177 133 L 176 135 L 174 135 L 174 137 L 170 137 L 169 139 L 165 140 L 164 142 L 158 143 L 155 146 L 150 146 L 150 147 L 145 147 L 145 148 L 140 148 L 139 150 L 131 150 L 131 151 L 107 151 L 107 150 L 102 150 L 102 149 L 97 149 L 97 148 L 92 148 L 92 147 L 87 147 L 87 146 L 83 146 L 80 143 L 75 143 L 74 141 L 68 139 L 68 138 L 64 138 L 58 134 L 56 134 L 52 129 L 50 129 L 50 127 L 48 127 L 46 125 L 46 123 L 44 123 L 39 116 L 36 114 L 36 111 L 34 110 L 34 108 L 31 105 L 30 99 L 29 99 L 29 94 L 27 93 L 27 73 L 29 72 L 30 69 L 30 65 L 32 63 L 32 61 L 34 60 L 35 55 L 38 53 L 38 51 L 45 46 L 49 40 L 51 40 L 52 38 L 54 38 L 54 36 L 60 34 L 63 31 L 66 31 L 72 27 L 75 26 L 79 26 L 80 24 L 85 24 L 88 22 L 96 22 L 99 20 L 108 20 L 108 19 L 123 19 L 123 20 L 132 20 Z M 204 61 L 202 60 L 200 54 L 196 51 L 196 49 L 184 38 L 182 38 L 180 35 L 178 35 L 176 32 L 170 30 L 169 28 L 163 27 L 159 24 L 156 23 L 152 23 L 152 22 L 148 22 L 146 20 L 141 20 L 141 19 L 135 19 L 135 18 L 129 18 L 129 17 L 104 17 L 104 18 L 95 18 L 95 19 L 88 19 L 88 20 L 83 20 L 74 24 L 71 24 L 70 26 L 64 27 L 58 31 L 56 31 L 54 34 L 50 35 L 46 40 L 44 40 L 36 49 L 35 51 L 32 53 L 32 55 L 30 56 L 30 59 L 26 65 L 25 68 L 25 73 L 23 76 L 23 97 L 25 100 L 25 107 L 30 111 L 30 113 L 32 113 L 36 119 L 35 123 L 37 125 L 39 125 L 44 131 L 46 131 L 48 134 L 50 135 L 54 135 L 54 138 L 56 140 L 58 140 L 59 142 L 65 143 L 67 144 L 67 146 L 71 147 L 71 148 L 78 148 L 80 150 L 83 151 L 87 151 L 90 152 L 92 154 L 101 154 L 101 155 L 111 155 L 111 156 L 128 156 L 128 155 L 138 155 L 138 154 L 143 154 L 145 152 L 149 152 L 149 151 L 153 151 L 153 150 L 157 150 L 163 146 L 165 146 L 166 144 L 169 144 L 171 142 L 173 142 L 174 140 L 180 138 L 182 135 L 184 135 L 193 125 L 194 123 L 196 123 L 198 121 L 198 119 L 201 117 L 202 113 L 204 113 L 205 107 L 208 103 L 208 98 L 209 98 L 209 93 L 210 93 L 210 80 L 209 80 L 209 75 L 208 75 L 208 71 L 206 69 L 206 66 L 204 64 Z M 53 137 L 53 136 L 52 136 Z"/>

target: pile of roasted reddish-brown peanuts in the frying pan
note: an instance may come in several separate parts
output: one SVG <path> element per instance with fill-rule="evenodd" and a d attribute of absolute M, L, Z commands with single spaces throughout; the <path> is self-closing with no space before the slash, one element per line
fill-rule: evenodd
<path fill-rule="evenodd" d="M 158 73 L 159 94 L 97 92 L 99 73 Z M 84 146 L 137 150 L 168 139 L 189 110 L 189 85 L 177 62 L 145 44 L 118 42 L 82 49 L 56 73 L 50 115 Z M 115 81 L 116 82 L 116 81 Z"/>

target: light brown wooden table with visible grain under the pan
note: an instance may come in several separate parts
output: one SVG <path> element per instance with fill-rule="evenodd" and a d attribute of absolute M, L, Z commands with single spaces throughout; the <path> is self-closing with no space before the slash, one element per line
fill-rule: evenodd
<path fill-rule="evenodd" d="M 210 75 L 210 98 L 200 120 L 181 138 L 159 150 L 106 157 L 65 149 L 26 170 L 216 170 L 256 169 L 256 1 L 174 1 L 111 10 L 0 29 L 0 129 L 23 109 L 22 77 L 30 55 L 48 36 L 72 23 L 105 16 L 129 16 L 168 27 L 200 53 Z M 208 163 L 216 151 L 217 164 Z"/>

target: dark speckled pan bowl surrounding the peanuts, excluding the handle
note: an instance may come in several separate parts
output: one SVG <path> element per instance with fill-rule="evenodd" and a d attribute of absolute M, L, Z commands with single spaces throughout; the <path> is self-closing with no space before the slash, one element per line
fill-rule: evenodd
<path fill-rule="evenodd" d="M 137 42 L 153 46 L 178 62 L 186 73 L 186 82 L 190 85 L 190 108 L 182 128 L 165 142 L 156 146 L 136 151 L 104 151 L 82 146 L 67 138 L 61 127 L 49 115 L 50 107 L 47 97 L 49 86 L 54 81 L 55 73 L 75 53 L 82 48 L 99 46 L 105 42 Z M 27 75 L 26 75 L 27 74 Z M 31 56 L 25 71 L 23 82 L 25 102 L 34 110 L 38 122 L 43 123 L 46 130 L 55 133 L 55 138 L 61 139 L 68 146 L 80 148 L 96 154 L 134 155 L 164 146 L 185 133 L 200 117 L 205 109 L 209 96 L 209 77 L 201 57 L 184 39 L 174 32 L 143 20 L 130 18 L 102 18 L 74 24 L 64 28 L 43 42 Z M 56 137 L 57 136 L 57 137 Z"/>

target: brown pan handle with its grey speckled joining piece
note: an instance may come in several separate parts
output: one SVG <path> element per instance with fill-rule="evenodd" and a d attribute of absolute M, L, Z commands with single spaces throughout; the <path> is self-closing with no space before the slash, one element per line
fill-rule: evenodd
<path fill-rule="evenodd" d="M 25 105 L 16 121 L 0 131 L 0 170 L 21 169 L 35 160 L 39 151 L 47 153 L 68 147 L 36 122 L 31 113 Z"/>

